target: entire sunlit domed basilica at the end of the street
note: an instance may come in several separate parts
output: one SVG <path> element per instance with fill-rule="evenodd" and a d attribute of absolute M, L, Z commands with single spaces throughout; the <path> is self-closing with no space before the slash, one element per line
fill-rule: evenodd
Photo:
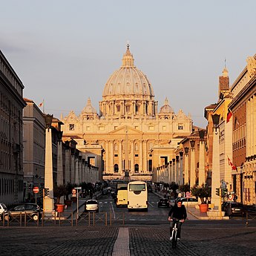
<path fill-rule="evenodd" d="M 105 84 L 99 113 L 88 98 L 81 114 L 70 111 L 61 121 L 62 139 L 76 140 L 82 158 L 99 168 L 103 180 L 157 181 L 157 168 L 174 159 L 193 126 L 190 114 L 175 114 L 167 98 L 157 110 L 151 82 L 134 65 L 129 45 Z"/>

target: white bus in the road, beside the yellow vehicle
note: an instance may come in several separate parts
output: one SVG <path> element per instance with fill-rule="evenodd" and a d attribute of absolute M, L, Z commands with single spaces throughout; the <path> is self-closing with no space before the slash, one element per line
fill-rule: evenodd
<path fill-rule="evenodd" d="M 128 210 L 144 209 L 148 211 L 148 188 L 144 181 L 131 181 L 128 183 Z"/>

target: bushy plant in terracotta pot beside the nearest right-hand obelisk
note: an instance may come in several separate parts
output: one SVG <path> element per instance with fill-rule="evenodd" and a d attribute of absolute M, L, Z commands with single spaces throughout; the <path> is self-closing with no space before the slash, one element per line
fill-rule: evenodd
<path fill-rule="evenodd" d="M 201 203 L 199 204 L 200 212 L 208 211 L 208 197 L 211 197 L 211 188 L 206 184 L 202 184 L 202 186 L 193 186 L 191 188 L 191 194 L 194 197 L 200 198 Z"/>

